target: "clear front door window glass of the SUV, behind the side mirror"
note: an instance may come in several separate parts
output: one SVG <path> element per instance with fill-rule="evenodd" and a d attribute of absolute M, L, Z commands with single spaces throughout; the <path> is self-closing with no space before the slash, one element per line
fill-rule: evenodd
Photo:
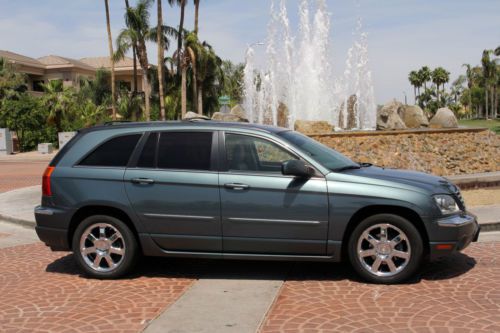
<path fill-rule="evenodd" d="M 247 135 L 226 134 L 226 160 L 231 171 L 281 172 L 297 157 L 275 143 Z"/>

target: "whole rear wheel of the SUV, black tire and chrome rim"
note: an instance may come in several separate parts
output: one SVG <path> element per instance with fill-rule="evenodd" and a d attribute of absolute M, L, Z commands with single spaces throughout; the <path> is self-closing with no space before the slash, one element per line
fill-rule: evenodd
<path fill-rule="evenodd" d="M 73 253 L 86 275 L 99 279 L 121 277 L 137 260 L 137 241 L 117 218 L 94 215 L 84 219 L 73 235 Z"/>

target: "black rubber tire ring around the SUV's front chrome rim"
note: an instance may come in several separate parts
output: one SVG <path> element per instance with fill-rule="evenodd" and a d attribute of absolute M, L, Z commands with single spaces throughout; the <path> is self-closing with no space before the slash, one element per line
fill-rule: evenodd
<path fill-rule="evenodd" d="M 361 234 L 371 226 L 379 223 L 388 223 L 401 229 L 406 236 L 411 247 L 410 261 L 406 267 L 394 276 L 375 276 L 366 271 L 357 255 L 358 239 Z M 418 229 L 407 219 L 393 214 L 377 214 L 364 219 L 354 228 L 348 244 L 348 255 L 354 270 L 365 280 L 372 283 L 395 284 L 401 283 L 410 278 L 420 267 L 423 257 L 423 241 Z"/>

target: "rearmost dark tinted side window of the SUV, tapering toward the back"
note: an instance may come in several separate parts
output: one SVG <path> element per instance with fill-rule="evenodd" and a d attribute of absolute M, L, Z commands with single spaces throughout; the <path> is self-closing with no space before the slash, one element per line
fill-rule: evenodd
<path fill-rule="evenodd" d="M 124 135 L 106 141 L 85 157 L 80 165 L 125 167 L 140 137 L 140 134 Z"/>

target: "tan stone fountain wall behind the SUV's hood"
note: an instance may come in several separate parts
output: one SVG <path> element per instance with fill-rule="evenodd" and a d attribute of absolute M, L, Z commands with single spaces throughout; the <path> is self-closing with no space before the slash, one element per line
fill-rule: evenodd
<path fill-rule="evenodd" d="M 500 171 L 500 136 L 482 129 L 309 134 L 354 161 L 437 175 Z"/>

